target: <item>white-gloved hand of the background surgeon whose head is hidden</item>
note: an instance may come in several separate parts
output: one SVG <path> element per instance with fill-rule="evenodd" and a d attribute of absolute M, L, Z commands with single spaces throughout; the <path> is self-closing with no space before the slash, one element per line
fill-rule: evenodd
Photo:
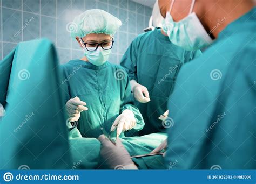
<path fill-rule="evenodd" d="M 145 86 L 140 85 L 139 83 L 137 83 L 136 80 L 131 80 L 130 84 L 134 98 L 137 101 L 139 101 L 140 103 L 147 103 L 150 101 L 149 91 L 147 91 L 147 88 Z"/>

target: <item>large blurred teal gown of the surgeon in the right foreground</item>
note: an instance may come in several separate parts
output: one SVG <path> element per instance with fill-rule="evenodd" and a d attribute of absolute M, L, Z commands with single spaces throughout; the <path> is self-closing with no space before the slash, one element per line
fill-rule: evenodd
<path fill-rule="evenodd" d="M 256 169 L 256 9 L 181 68 L 170 97 L 166 166 Z"/>

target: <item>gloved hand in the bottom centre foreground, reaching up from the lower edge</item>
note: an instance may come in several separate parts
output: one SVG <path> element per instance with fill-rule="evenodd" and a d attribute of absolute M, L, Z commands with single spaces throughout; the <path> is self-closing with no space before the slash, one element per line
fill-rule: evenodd
<path fill-rule="evenodd" d="M 102 161 L 100 161 L 100 163 L 103 163 L 103 166 L 100 167 L 110 169 L 138 169 L 120 139 L 116 140 L 116 145 L 104 135 L 100 135 L 98 140 L 101 143 L 100 159 L 102 159 Z"/>

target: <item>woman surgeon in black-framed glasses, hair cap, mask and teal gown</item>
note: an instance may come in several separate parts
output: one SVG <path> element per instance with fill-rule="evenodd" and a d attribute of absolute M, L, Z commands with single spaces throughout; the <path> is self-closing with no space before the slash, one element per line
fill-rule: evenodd
<path fill-rule="evenodd" d="M 97 138 L 102 129 L 112 132 L 112 137 L 132 136 L 143 128 L 144 121 L 132 103 L 125 70 L 107 61 L 113 34 L 122 23 L 110 13 L 92 9 L 77 16 L 73 24 L 77 29 L 71 36 L 83 48 L 84 57 L 63 65 L 67 123 L 77 125 L 83 137 Z"/>

